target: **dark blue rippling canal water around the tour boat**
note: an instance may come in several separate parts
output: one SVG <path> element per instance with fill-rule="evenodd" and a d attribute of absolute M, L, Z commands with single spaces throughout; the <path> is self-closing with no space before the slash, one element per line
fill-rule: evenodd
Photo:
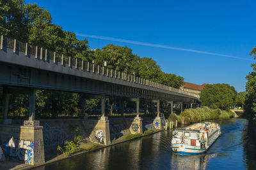
<path fill-rule="evenodd" d="M 248 121 L 212 122 L 221 125 L 222 134 L 205 154 L 172 153 L 172 131 L 162 131 L 36 169 L 256 169 L 256 134 L 250 134 Z"/>

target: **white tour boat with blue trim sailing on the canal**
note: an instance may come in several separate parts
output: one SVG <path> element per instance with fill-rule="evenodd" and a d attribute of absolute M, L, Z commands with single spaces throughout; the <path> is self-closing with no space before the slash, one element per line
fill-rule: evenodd
<path fill-rule="evenodd" d="M 213 122 L 189 125 L 173 131 L 171 148 L 180 154 L 204 153 L 220 135 L 220 125 Z"/>

